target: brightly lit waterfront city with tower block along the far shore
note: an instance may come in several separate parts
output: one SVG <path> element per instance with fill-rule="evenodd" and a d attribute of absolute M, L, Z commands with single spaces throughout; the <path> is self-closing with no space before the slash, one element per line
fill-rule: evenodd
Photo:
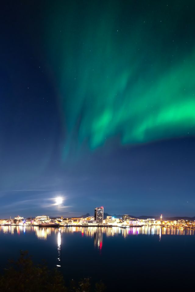
<path fill-rule="evenodd" d="M 88 215 L 87 217 L 49 217 L 47 215 L 39 215 L 36 217 L 24 218 L 16 216 L 14 218 L 0 219 L 2 226 L 41 226 L 41 227 L 118 227 L 118 228 L 131 228 L 143 226 L 161 226 L 177 229 L 195 229 L 195 221 L 190 220 L 163 220 L 163 216 L 159 218 L 132 218 L 128 214 L 116 218 L 114 216 L 104 217 L 104 207 L 97 207 L 94 209 L 94 216 Z"/>

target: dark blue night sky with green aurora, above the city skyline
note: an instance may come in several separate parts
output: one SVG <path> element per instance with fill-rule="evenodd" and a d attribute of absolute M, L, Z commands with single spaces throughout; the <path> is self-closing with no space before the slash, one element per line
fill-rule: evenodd
<path fill-rule="evenodd" d="M 1 4 L 0 217 L 195 215 L 194 11 Z"/>

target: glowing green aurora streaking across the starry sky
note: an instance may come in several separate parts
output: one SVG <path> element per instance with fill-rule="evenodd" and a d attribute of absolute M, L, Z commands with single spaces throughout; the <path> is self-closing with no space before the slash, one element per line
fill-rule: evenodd
<path fill-rule="evenodd" d="M 188 5 L 189 4 L 189 5 Z M 45 41 L 59 89 L 64 158 L 195 133 L 195 4 L 73 1 L 48 8 Z"/>

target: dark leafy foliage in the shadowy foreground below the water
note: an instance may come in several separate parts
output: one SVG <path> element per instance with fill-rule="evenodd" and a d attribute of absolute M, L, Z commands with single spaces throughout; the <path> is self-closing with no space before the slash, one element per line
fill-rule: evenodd
<path fill-rule="evenodd" d="M 65 285 L 62 274 L 56 268 L 48 269 L 47 265 L 35 265 L 28 252 L 20 252 L 17 261 L 9 261 L 9 267 L 0 276 L 0 292 L 102 292 L 102 282 L 91 285 L 90 279 L 79 283 L 74 280 Z"/>

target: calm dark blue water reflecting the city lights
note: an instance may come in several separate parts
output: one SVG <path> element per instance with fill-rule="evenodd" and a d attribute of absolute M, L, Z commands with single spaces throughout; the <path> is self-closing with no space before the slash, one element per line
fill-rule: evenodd
<path fill-rule="evenodd" d="M 67 281 L 102 279 L 108 291 L 186 290 L 195 272 L 193 230 L 0 226 L 0 243 L 1 269 L 28 250 L 35 262 L 57 266 Z"/>

